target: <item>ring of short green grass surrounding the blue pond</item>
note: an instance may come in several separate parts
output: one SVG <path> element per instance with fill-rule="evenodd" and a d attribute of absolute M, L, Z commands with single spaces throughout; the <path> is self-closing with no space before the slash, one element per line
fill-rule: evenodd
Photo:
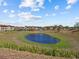
<path fill-rule="evenodd" d="M 56 37 L 60 40 L 59 43 L 57 44 L 40 44 L 40 43 L 36 43 L 36 42 L 31 42 L 29 40 L 27 40 L 25 38 L 26 35 L 29 35 L 30 33 L 33 33 L 33 32 L 23 32 L 21 33 L 19 36 L 18 36 L 18 39 L 22 40 L 24 43 L 28 43 L 28 44 L 33 44 L 33 45 L 38 45 L 38 46 L 42 46 L 42 47 L 50 47 L 50 48 L 68 48 L 70 47 L 68 41 L 66 40 L 66 38 L 62 38 L 58 35 L 52 35 L 52 34 L 49 34 L 49 33 L 45 33 L 45 34 L 49 34 L 51 35 L 52 37 Z M 37 32 L 38 33 L 38 32 Z M 67 42 L 67 43 L 66 43 Z"/>

